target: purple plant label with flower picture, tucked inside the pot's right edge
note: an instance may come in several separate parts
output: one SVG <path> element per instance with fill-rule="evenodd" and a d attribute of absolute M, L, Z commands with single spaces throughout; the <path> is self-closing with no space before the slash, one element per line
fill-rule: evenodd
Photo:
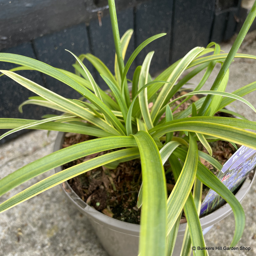
<path fill-rule="evenodd" d="M 231 191 L 236 191 L 248 173 L 256 166 L 256 150 L 240 147 L 223 165 L 219 180 Z M 225 204 L 225 200 L 210 189 L 201 205 L 200 216 L 204 216 Z"/>

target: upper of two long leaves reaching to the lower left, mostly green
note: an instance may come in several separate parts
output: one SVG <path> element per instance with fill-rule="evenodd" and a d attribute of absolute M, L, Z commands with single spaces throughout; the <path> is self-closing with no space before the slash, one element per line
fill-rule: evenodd
<path fill-rule="evenodd" d="M 49 171 L 57 166 L 71 162 L 75 159 L 91 155 L 104 150 L 136 146 L 136 142 L 132 137 L 115 136 L 108 138 L 100 138 L 87 140 L 77 143 L 67 148 L 60 149 L 48 156 L 44 156 L 32 163 L 21 167 L 10 175 L 0 180 L 0 195 L 3 195 L 12 188 L 17 187 L 26 180 L 30 180 L 39 174 Z"/>

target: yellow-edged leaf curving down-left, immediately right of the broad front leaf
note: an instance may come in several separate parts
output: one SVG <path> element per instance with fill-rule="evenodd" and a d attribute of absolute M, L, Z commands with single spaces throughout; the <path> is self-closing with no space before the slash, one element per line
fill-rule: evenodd
<path fill-rule="evenodd" d="M 191 192 L 196 177 L 197 162 L 198 150 L 196 140 L 190 135 L 188 154 L 184 166 L 167 200 L 167 234 L 169 234 L 174 226 Z"/>

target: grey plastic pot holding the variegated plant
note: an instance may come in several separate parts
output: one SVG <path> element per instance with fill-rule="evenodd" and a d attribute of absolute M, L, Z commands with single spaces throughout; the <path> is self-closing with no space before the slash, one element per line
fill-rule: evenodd
<path fill-rule="evenodd" d="M 59 132 L 55 141 L 54 151 L 62 148 L 64 140 L 64 132 Z M 62 167 L 55 168 L 55 172 L 62 171 Z M 242 202 L 244 196 L 247 194 L 252 186 L 252 180 L 247 179 L 244 181 L 241 188 L 236 193 L 236 198 L 239 202 Z M 139 245 L 139 232 L 140 225 L 123 222 L 106 216 L 105 214 L 98 212 L 88 204 L 86 204 L 69 186 L 68 182 L 65 182 L 64 186 L 61 186 L 65 195 L 74 204 L 74 206 L 82 212 L 92 224 L 96 235 L 98 236 L 100 243 L 106 249 L 111 256 L 137 256 Z M 212 226 L 224 219 L 232 212 L 229 204 L 223 205 L 221 208 L 200 218 L 203 233 L 208 232 Z M 180 255 L 183 236 L 186 228 L 186 223 L 181 223 L 178 230 L 178 236 L 174 247 L 173 255 Z"/>

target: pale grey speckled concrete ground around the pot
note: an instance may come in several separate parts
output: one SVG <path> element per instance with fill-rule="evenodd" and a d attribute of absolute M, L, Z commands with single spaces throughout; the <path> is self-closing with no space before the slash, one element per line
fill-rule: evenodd
<path fill-rule="evenodd" d="M 251 33 L 242 46 L 244 53 L 256 55 L 256 33 Z M 230 43 L 221 44 L 224 51 Z M 198 78 L 195 78 L 194 82 Z M 230 68 L 228 92 L 256 80 L 256 60 L 236 59 Z M 212 79 L 206 87 L 210 86 Z M 189 85 L 192 86 L 192 85 Z M 255 107 L 256 92 L 245 97 Z M 234 104 L 237 112 L 256 121 L 256 114 L 244 103 Z M 0 147 L 0 178 L 19 167 L 52 152 L 56 132 L 47 137 L 46 131 L 35 131 Z M 53 173 L 53 171 L 50 171 Z M 22 188 L 49 175 L 27 182 Z M 2 196 L 3 202 L 22 188 Z M 242 205 L 246 214 L 246 226 L 238 247 L 250 247 L 250 251 L 209 251 L 209 255 L 256 255 L 256 183 Z M 234 218 L 230 214 L 215 224 L 205 235 L 208 247 L 229 246 L 234 232 Z M 86 218 L 69 205 L 59 186 L 54 187 L 0 215 L 0 256 L 107 256 Z M 121 256 L 121 255 L 120 255 Z M 160 255 L 161 256 L 161 255 Z"/>

